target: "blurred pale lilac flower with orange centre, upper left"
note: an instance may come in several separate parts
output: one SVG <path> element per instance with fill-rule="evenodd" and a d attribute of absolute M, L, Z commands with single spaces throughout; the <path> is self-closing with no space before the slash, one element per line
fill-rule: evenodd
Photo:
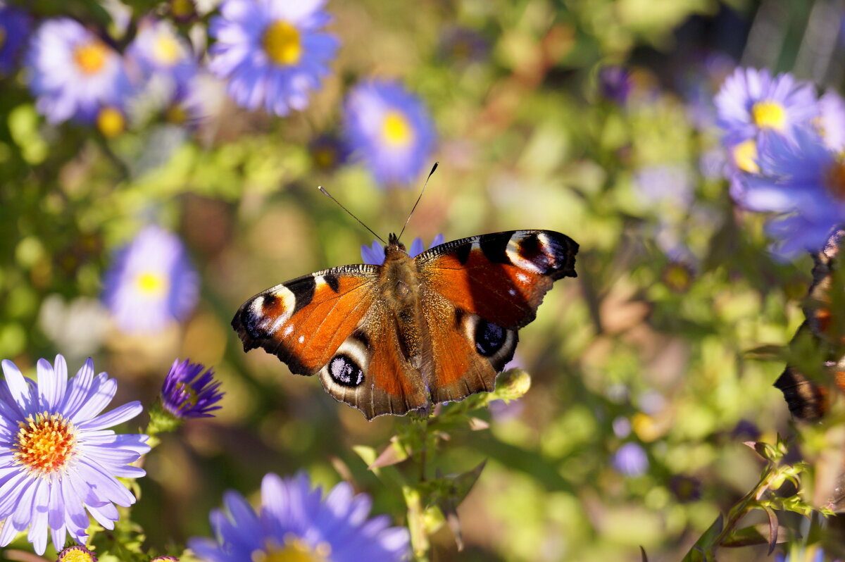
<path fill-rule="evenodd" d="M 50 123 L 93 123 L 102 107 L 123 107 L 132 92 L 123 58 L 73 19 L 41 24 L 26 66 L 35 106 Z"/>

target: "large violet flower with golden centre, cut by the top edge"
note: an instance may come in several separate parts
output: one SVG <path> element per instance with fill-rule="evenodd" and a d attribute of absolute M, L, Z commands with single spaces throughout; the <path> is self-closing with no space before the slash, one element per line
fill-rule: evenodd
<path fill-rule="evenodd" d="M 308 95 L 329 74 L 339 45 L 319 30 L 329 23 L 324 0 L 226 0 L 211 19 L 209 68 L 228 79 L 239 106 L 287 115 L 308 106 Z"/>

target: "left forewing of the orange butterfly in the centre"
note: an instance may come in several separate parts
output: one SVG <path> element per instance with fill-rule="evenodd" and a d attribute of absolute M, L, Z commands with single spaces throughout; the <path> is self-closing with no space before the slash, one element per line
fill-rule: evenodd
<path fill-rule="evenodd" d="M 378 267 L 345 265 L 270 287 L 243 303 L 232 327 L 243 350 L 263 347 L 292 373 L 315 374 L 378 296 Z"/>

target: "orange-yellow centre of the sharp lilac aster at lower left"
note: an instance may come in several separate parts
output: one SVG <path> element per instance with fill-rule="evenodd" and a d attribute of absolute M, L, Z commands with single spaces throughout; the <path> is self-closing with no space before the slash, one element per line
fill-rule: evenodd
<path fill-rule="evenodd" d="M 76 429 L 62 414 L 47 412 L 18 423 L 14 460 L 30 474 L 44 477 L 62 471 L 76 451 Z"/>

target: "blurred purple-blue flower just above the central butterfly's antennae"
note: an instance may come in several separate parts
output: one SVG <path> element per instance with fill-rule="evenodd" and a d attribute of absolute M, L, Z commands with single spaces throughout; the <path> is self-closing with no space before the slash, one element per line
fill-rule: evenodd
<path fill-rule="evenodd" d="M 344 113 L 349 145 L 382 185 L 412 182 L 431 163 L 431 117 L 400 84 L 372 80 L 355 86 Z"/>

